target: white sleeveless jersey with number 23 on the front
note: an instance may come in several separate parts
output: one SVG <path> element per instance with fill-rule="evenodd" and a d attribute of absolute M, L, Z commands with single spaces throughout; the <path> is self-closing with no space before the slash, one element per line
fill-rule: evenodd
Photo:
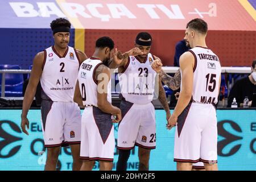
<path fill-rule="evenodd" d="M 129 56 L 128 63 L 119 73 L 119 84 L 122 96 L 134 104 L 148 104 L 155 92 L 156 72 L 151 68 L 154 57 L 148 53 L 141 63 L 137 56 Z"/>

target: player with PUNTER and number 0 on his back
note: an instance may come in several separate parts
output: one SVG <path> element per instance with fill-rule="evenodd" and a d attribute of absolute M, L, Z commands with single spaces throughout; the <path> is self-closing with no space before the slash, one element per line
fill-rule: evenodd
<path fill-rule="evenodd" d="M 82 62 L 79 69 L 74 100 L 85 106 L 81 126 L 81 171 L 92 170 L 95 160 L 100 161 L 100 170 L 113 168 L 113 122 L 121 119 L 121 110 L 111 104 L 110 69 L 105 66 L 113 48 L 112 39 L 99 38 L 93 56 Z"/>

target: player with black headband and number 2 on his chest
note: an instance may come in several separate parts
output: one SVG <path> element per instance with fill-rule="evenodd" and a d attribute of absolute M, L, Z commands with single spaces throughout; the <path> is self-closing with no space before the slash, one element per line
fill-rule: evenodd
<path fill-rule="evenodd" d="M 55 170 L 60 147 L 69 144 L 73 156 L 73 170 L 79 170 L 81 115 L 73 102 L 77 73 L 81 61 L 87 56 L 69 47 L 71 23 L 64 18 L 51 22 L 54 46 L 39 52 L 33 61 L 30 80 L 22 106 L 22 131 L 29 129 L 28 110 L 34 99 L 36 86 L 42 85 L 42 129 L 44 146 L 47 147 L 45 170 Z"/>

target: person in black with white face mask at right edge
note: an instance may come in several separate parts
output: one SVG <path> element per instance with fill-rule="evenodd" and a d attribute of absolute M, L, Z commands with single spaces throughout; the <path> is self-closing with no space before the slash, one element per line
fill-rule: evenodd
<path fill-rule="evenodd" d="M 233 98 L 236 98 L 237 106 L 243 107 L 243 100 L 247 96 L 249 107 L 253 100 L 253 93 L 256 93 L 256 60 L 251 64 L 251 74 L 238 80 L 230 90 L 228 97 L 228 107 L 231 107 Z"/>

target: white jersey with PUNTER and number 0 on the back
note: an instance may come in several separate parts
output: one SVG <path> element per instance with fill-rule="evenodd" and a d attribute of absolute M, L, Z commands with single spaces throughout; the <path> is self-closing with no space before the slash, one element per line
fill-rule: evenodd
<path fill-rule="evenodd" d="M 80 65 L 78 81 L 82 96 L 82 104 L 84 105 L 98 106 L 97 92 L 101 92 L 102 90 L 97 90 L 97 80 L 94 79 L 94 73 L 101 64 L 102 61 L 100 59 L 90 57 Z M 108 82 L 108 101 L 112 103 L 110 80 Z"/>

